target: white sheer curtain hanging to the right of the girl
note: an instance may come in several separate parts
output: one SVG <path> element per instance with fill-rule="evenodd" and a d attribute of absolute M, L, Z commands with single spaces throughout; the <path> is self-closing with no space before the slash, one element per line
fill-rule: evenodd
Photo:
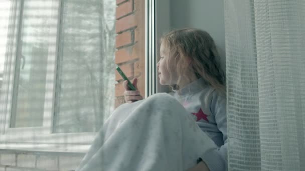
<path fill-rule="evenodd" d="M 304 0 L 225 0 L 229 170 L 305 170 L 304 18 Z"/>

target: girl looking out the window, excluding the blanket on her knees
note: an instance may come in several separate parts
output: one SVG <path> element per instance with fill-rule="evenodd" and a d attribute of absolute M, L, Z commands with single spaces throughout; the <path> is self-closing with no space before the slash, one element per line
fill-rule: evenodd
<path fill-rule="evenodd" d="M 160 55 L 157 64 L 160 84 L 174 88 L 171 94 L 227 158 L 225 80 L 212 37 L 199 29 L 174 30 L 161 38 Z M 136 82 L 135 78 L 133 84 Z M 127 81 L 123 84 L 127 102 L 142 99 L 139 91 L 129 89 Z"/>

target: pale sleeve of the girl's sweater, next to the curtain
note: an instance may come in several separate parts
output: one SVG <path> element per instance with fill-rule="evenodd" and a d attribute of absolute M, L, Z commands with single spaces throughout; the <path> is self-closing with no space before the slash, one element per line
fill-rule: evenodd
<path fill-rule="evenodd" d="M 223 134 L 224 144 L 213 151 L 207 151 L 203 154 L 202 159 L 208 165 L 211 171 L 227 170 L 227 114 L 226 114 L 226 97 L 216 91 L 211 94 L 210 109 L 215 117 L 218 129 Z"/>

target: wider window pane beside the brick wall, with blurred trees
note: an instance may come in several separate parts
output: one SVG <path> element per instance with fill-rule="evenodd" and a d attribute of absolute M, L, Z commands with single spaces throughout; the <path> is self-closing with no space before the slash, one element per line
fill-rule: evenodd
<path fill-rule="evenodd" d="M 62 6 L 54 131 L 97 131 L 114 106 L 115 0 Z"/>

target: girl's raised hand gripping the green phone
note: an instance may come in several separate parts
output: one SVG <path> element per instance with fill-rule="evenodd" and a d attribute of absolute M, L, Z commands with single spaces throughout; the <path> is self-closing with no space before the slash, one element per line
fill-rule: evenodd
<path fill-rule="evenodd" d="M 135 90 L 135 91 L 130 90 L 130 88 L 127 85 L 127 82 L 128 82 L 127 80 L 124 80 L 124 82 L 123 82 L 123 86 L 125 88 L 125 91 L 124 91 L 125 101 L 128 102 L 128 103 L 132 103 L 134 101 L 143 99 L 143 97 L 140 94 L 140 91 L 138 91 L 138 90 Z M 134 78 L 132 80 L 132 84 L 137 89 L 136 83 L 137 83 L 137 78 Z"/>

